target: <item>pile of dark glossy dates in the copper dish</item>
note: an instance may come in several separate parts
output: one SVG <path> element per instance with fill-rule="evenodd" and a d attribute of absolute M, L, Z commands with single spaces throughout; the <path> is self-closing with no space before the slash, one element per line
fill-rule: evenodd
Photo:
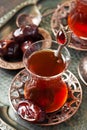
<path fill-rule="evenodd" d="M 0 56 L 5 60 L 22 59 L 26 49 L 43 36 L 39 34 L 38 26 L 31 24 L 21 26 L 12 32 L 10 39 L 0 40 Z"/>

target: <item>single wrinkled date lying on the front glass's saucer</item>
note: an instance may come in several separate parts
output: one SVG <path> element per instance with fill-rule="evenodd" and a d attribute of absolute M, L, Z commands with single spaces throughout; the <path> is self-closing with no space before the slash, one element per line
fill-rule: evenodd
<path fill-rule="evenodd" d="M 21 101 L 17 112 L 22 119 L 30 122 L 42 122 L 45 119 L 45 112 L 31 101 Z"/>

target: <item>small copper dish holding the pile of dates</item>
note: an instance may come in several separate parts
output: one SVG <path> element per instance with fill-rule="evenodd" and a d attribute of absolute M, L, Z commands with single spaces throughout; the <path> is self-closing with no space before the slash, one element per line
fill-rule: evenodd
<path fill-rule="evenodd" d="M 38 29 L 39 29 L 39 33 L 43 36 L 44 40 L 49 39 L 49 45 L 47 44 L 46 46 L 50 46 L 51 36 L 50 36 L 49 32 L 43 28 L 40 28 L 40 27 Z M 11 37 L 11 35 L 9 35 L 9 37 Z M 8 62 L 0 57 L 0 67 L 4 68 L 4 69 L 9 69 L 9 70 L 17 70 L 17 69 L 24 68 L 24 65 L 23 65 L 22 61 Z"/>

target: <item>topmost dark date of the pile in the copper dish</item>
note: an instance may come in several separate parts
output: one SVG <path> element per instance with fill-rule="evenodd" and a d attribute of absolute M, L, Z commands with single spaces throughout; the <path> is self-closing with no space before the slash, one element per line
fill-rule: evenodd
<path fill-rule="evenodd" d="M 36 25 L 21 26 L 13 32 L 14 40 L 20 44 L 38 36 L 38 27 Z"/>

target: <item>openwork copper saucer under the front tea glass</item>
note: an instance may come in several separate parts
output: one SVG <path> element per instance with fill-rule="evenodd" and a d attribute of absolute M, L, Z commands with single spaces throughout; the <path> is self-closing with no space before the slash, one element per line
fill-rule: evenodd
<path fill-rule="evenodd" d="M 30 79 L 27 70 L 20 71 L 13 79 L 9 90 L 9 99 L 13 110 L 17 113 L 17 104 L 24 100 L 24 84 Z M 72 117 L 82 102 L 82 88 L 78 79 L 70 72 L 63 74 L 63 80 L 67 83 L 69 96 L 64 106 L 53 113 L 46 114 L 45 121 L 38 123 L 42 126 L 50 126 L 62 123 Z"/>

